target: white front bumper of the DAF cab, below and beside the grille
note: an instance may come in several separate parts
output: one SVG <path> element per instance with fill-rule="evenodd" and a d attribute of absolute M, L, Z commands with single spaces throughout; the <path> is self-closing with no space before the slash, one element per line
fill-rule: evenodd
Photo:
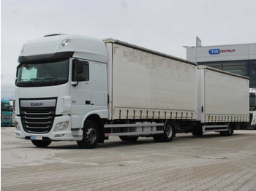
<path fill-rule="evenodd" d="M 20 125 L 20 129 L 15 127 L 15 137 L 18 139 L 28 139 L 31 136 L 42 136 L 42 138 L 50 139 L 52 141 L 80 141 L 83 139 L 82 130 L 72 133 L 71 130 L 71 117 L 68 114 L 64 114 L 59 117 L 55 117 L 53 122 L 53 128 L 49 133 L 26 133 L 22 128 L 22 122 L 20 117 L 16 116 L 15 121 Z M 68 127 L 65 130 L 54 131 L 56 124 L 59 122 L 68 121 Z"/>

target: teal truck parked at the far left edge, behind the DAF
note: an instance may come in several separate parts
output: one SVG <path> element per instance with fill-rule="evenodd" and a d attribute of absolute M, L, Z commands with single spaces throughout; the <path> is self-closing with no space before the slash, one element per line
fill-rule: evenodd
<path fill-rule="evenodd" d="M 12 126 L 10 101 L 4 98 L 1 98 L 1 126 Z"/>

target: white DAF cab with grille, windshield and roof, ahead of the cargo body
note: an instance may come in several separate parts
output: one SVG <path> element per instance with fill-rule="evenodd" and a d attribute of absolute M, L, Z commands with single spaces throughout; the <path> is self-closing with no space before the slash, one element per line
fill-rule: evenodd
<path fill-rule="evenodd" d="M 83 139 L 87 118 L 108 118 L 107 60 L 99 39 L 52 34 L 26 42 L 15 82 L 15 136 L 36 146 Z"/>

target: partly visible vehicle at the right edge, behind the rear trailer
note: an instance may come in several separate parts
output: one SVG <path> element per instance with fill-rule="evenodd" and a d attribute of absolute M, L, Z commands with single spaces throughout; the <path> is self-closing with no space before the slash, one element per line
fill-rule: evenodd
<path fill-rule="evenodd" d="M 256 89 L 249 88 L 249 125 L 246 128 L 256 129 Z"/>

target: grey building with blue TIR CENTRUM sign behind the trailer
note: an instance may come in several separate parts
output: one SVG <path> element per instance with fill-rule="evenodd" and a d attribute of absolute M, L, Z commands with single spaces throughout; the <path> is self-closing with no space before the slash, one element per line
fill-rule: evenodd
<path fill-rule="evenodd" d="M 187 47 L 187 60 L 249 77 L 256 87 L 256 43 Z"/>

